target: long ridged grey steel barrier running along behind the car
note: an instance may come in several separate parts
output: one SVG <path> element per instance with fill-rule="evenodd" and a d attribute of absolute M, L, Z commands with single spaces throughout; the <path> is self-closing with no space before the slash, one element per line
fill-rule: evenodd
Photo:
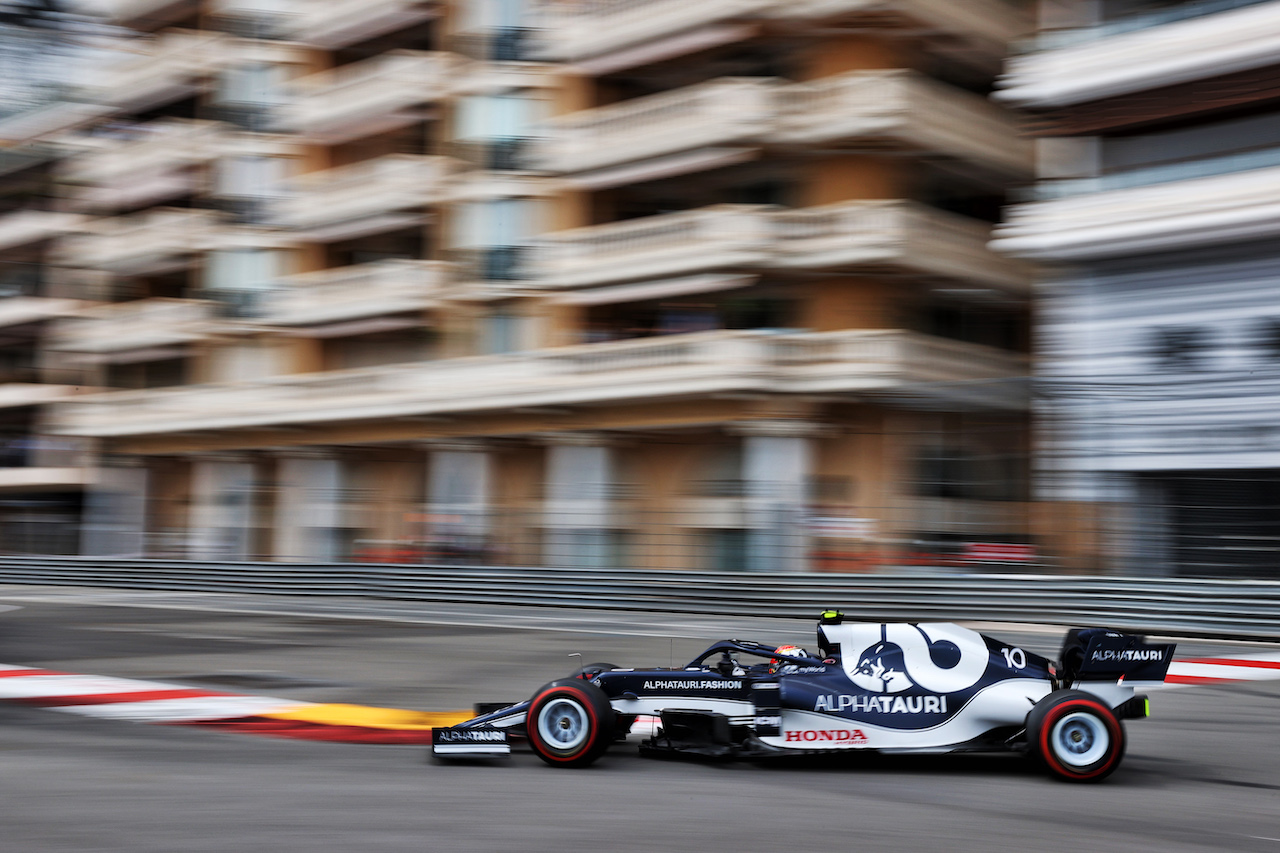
<path fill-rule="evenodd" d="M 0 583 L 870 621 L 1016 621 L 1280 640 L 1280 581 L 0 557 Z"/>

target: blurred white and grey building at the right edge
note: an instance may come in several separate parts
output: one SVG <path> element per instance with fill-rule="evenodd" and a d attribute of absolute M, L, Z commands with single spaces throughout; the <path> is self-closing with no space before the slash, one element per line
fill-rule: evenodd
<path fill-rule="evenodd" d="M 1044 0 L 997 100 L 1039 178 L 993 246 L 1038 301 L 1048 511 L 1126 573 L 1274 575 L 1280 3 Z"/>

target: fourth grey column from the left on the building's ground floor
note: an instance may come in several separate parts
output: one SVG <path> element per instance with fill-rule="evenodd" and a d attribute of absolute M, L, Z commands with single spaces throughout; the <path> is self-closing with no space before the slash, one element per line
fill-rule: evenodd
<path fill-rule="evenodd" d="M 483 442 L 428 443 L 429 558 L 489 558 L 492 470 L 492 455 Z"/>

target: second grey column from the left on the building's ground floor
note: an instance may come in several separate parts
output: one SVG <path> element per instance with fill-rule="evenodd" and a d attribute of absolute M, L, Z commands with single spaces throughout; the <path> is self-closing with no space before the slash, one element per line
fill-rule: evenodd
<path fill-rule="evenodd" d="M 253 462 L 210 453 L 192 460 L 187 556 L 247 560 L 253 508 Z"/>

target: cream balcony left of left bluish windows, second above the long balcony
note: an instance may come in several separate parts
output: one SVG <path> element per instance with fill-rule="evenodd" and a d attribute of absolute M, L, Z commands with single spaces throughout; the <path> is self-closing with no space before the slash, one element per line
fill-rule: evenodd
<path fill-rule="evenodd" d="M 70 237 L 60 247 L 64 264 L 120 275 L 182 269 L 210 245 L 211 210 L 159 207 L 138 216 L 100 219 L 96 231 Z"/>

